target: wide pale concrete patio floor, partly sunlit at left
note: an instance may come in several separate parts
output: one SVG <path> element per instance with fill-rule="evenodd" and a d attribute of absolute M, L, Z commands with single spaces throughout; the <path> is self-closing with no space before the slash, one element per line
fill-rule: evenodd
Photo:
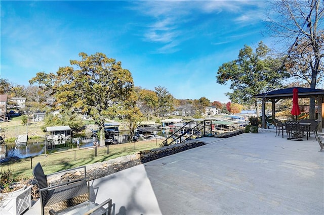
<path fill-rule="evenodd" d="M 324 152 L 313 134 L 200 140 L 208 144 L 90 181 L 91 198 L 112 198 L 116 215 L 324 214 Z"/>

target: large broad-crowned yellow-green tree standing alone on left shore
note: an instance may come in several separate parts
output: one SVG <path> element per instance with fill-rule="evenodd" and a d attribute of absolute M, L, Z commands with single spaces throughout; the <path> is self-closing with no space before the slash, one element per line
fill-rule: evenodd
<path fill-rule="evenodd" d="M 80 52 L 79 57 L 82 60 L 70 61 L 72 67 L 60 67 L 56 75 L 37 73 L 29 83 L 51 88 L 58 108 L 92 117 L 100 129 L 100 143 L 104 144 L 105 120 L 123 111 L 123 102 L 133 91 L 133 78 L 121 62 L 103 53 L 88 56 Z"/>

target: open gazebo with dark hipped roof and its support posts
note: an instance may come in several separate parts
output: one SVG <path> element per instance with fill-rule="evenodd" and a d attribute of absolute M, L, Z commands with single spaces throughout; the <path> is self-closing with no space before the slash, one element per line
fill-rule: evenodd
<path fill-rule="evenodd" d="M 298 89 L 298 97 L 299 98 L 314 98 L 318 103 L 318 120 L 321 123 L 318 126 L 318 131 L 321 132 L 323 128 L 323 118 L 324 118 L 324 90 L 322 89 L 310 89 L 304 87 L 290 87 L 285 89 L 274 90 L 271 92 L 261 93 L 255 95 L 257 98 L 262 99 L 262 128 L 265 128 L 265 103 L 267 101 L 272 102 L 272 118 L 275 116 L 275 103 L 277 103 L 282 98 L 293 98 L 293 89 Z"/>

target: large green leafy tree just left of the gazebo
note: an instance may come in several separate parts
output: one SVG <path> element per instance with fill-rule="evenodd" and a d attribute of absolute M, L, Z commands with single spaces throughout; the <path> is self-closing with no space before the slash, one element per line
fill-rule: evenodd
<path fill-rule="evenodd" d="M 290 77 L 281 65 L 281 59 L 273 59 L 269 55 L 270 49 L 261 41 L 253 49 L 245 45 L 239 50 L 238 59 L 224 63 L 217 72 L 217 83 L 226 84 L 231 81 L 227 92 L 232 102 L 254 104 L 257 116 L 259 113 L 258 100 L 254 95 L 282 86 L 282 81 Z"/>

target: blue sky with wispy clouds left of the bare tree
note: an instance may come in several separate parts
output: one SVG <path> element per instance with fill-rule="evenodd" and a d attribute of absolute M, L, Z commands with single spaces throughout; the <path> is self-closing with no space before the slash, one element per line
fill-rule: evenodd
<path fill-rule="evenodd" d="M 178 99 L 227 102 L 219 66 L 245 44 L 270 46 L 263 1 L 1 1 L 1 78 L 29 85 L 103 52 L 132 73 L 135 86 L 163 86 Z"/>

